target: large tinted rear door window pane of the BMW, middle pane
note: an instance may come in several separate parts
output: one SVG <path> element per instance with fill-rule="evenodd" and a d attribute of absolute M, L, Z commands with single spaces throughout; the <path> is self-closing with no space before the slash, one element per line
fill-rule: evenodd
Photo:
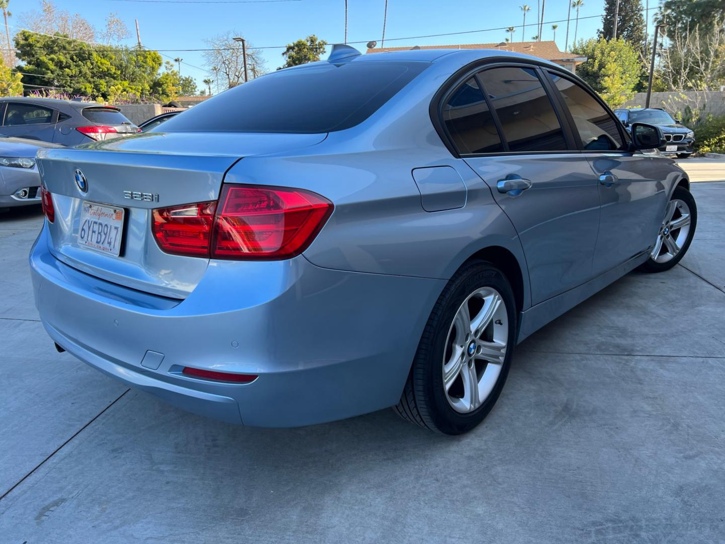
<path fill-rule="evenodd" d="M 537 73 L 528 67 L 497 67 L 479 73 L 512 152 L 566 151 L 559 118 Z"/>

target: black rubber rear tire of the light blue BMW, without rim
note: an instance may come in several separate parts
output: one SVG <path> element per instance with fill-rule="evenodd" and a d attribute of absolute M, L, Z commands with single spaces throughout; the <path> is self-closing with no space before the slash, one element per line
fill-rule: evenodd
<path fill-rule="evenodd" d="M 476 410 L 459 413 L 452 408 L 444 392 L 444 350 L 458 308 L 469 294 L 481 287 L 496 289 L 505 303 L 508 342 L 500 374 L 489 396 Z M 517 317 L 513 290 L 503 273 L 483 260 L 465 263 L 443 289 L 428 318 L 405 389 L 394 411 L 411 423 L 443 434 L 463 434 L 481 423 L 493 408 L 506 382 L 513 357 Z"/>

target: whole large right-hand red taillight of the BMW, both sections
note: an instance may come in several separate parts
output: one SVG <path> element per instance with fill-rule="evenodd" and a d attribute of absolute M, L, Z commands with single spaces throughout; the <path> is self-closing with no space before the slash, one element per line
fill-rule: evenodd
<path fill-rule="evenodd" d="M 153 211 L 159 247 L 174 255 L 279 260 L 312 243 L 334 206 L 303 189 L 225 185 L 216 202 Z"/>

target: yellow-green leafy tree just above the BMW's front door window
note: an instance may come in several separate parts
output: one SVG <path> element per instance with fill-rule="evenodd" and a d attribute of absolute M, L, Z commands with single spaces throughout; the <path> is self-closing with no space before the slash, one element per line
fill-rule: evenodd
<path fill-rule="evenodd" d="M 610 107 L 620 107 L 634 96 L 642 62 L 634 44 L 624 39 L 581 40 L 571 52 L 587 57 L 576 67 L 576 74 L 602 95 Z"/>

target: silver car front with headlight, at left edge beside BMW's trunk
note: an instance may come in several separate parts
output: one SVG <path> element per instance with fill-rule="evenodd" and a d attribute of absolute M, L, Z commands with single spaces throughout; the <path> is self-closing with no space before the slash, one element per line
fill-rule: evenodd
<path fill-rule="evenodd" d="M 0 134 L 0 210 L 41 203 L 36 152 L 53 147 L 61 146 Z"/>

